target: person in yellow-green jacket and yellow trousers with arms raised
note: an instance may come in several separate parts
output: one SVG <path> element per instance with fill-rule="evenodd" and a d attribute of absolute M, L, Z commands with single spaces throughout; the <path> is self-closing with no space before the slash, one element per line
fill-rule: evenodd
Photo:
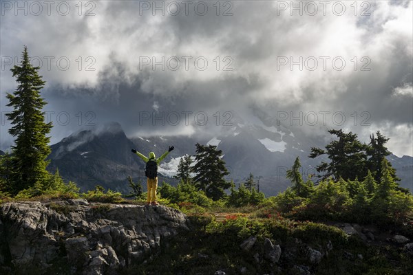
<path fill-rule="evenodd" d="M 141 159 L 143 159 L 144 162 L 146 162 L 145 176 L 147 176 L 148 206 L 159 205 L 159 203 L 156 202 L 156 188 L 158 188 L 158 165 L 160 164 L 160 162 L 162 162 L 162 159 L 165 159 L 169 152 L 173 150 L 173 148 L 173 146 L 169 146 L 169 150 L 158 158 L 155 157 L 155 153 L 153 152 L 149 153 L 149 158 L 147 158 L 145 157 L 145 155 L 142 155 L 135 149 L 131 150 L 132 153 L 136 153 L 136 155 L 138 155 Z"/>

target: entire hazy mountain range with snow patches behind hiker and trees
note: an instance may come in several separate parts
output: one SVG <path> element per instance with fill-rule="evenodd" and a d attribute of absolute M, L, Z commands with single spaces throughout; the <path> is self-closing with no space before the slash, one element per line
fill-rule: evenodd
<path fill-rule="evenodd" d="M 298 156 L 301 161 L 301 174 L 304 179 L 310 174 L 316 174 L 315 166 L 326 157 L 309 159 L 311 146 L 324 146 L 321 138 L 306 137 L 304 133 L 273 122 L 236 123 L 229 131 L 217 136 L 169 136 L 169 137 L 130 137 L 128 138 L 120 124 L 111 122 L 97 129 L 79 131 L 61 142 L 52 145 L 51 160 L 48 169 L 59 172 L 66 180 L 75 181 L 82 191 L 93 189 L 96 184 L 112 190 L 129 192 L 127 176 L 134 181 L 141 180 L 146 188 L 144 173 L 145 164 L 131 153 L 136 148 L 140 153 L 156 156 L 162 155 L 169 146 L 173 150 L 160 164 L 160 179 L 175 185 L 176 169 L 180 157 L 185 154 L 195 154 L 195 144 L 213 144 L 222 150 L 230 175 L 227 180 L 235 183 L 243 182 L 249 173 L 253 173 L 256 181 L 260 178 L 260 190 L 267 196 L 277 195 L 290 186 L 286 179 L 286 170 L 293 166 Z M 274 125 L 274 123 L 273 123 Z M 275 124 L 277 125 L 277 124 Z M 413 157 L 388 157 L 397 175 L 401 177 L 401 186 L 413 190 Z"/>

